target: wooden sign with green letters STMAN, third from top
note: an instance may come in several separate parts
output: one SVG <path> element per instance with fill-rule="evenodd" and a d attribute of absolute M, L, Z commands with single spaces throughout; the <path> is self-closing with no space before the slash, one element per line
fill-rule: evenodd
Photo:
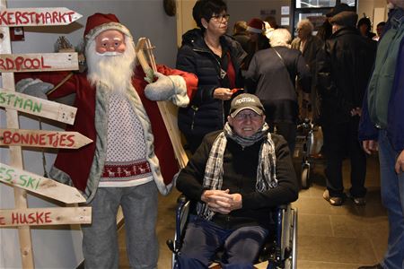
<path fill-rule="evenodd" d="M 75 123 L 77 108 L 31 95 L 0 88 L 0 107 L 12 108 L 31 115 L 46 117 L 69 125 Z"/>

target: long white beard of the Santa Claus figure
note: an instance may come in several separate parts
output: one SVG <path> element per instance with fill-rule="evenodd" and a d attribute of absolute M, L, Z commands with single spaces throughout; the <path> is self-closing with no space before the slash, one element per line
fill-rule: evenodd
<path fill-rule="evenodd" d="M 110 55 L 98 54 L 92 41 L 85 51 L 88 74 L 92 85 L 105 84 L 110 91 L 123 93 L 131 86 L 136 52 L 132 42 L 126 42 L 124 53 Z"/>

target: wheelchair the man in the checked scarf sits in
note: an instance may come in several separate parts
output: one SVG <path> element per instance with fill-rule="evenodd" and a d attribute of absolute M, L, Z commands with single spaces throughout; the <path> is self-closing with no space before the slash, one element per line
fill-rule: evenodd
<path fill-rule="evenodd" d="M 172 269 L 179 269 L 177 256 L 180 254 L 189 213 L 193 205 L 183 195 L 178 199 L 174 239 L 166 242 L 172 251 Z M 275 209 L 272 217 L 274 225 L 270 228 L 267 242 L 259 252 L 255 264 L 268 261 L 267 269 L 295 269 L 297 267 L 297 209 L 293 208 L 291 204 L 281 205 Z M 260 266 L 260 268 L 262 267 Z"/>

